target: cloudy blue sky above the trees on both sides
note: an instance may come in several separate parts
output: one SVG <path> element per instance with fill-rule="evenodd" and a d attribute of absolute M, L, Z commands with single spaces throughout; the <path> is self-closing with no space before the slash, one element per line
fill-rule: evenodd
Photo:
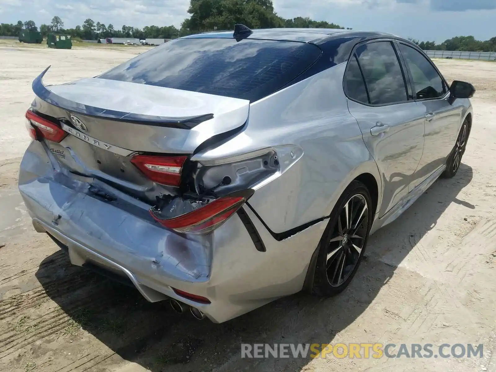
<path fill-rule="evenodd" d="M 496 0 L 273 0 L 285 18 L 309 16 L 344 27 L 390 32 L 442 42 L 458 35 L 487 40 L 496 36 Z M 0 0 L 0 22 L 32 19 L 50 23 L 58 15 L 65 27 L 86 18 L 115 28 L 123 24 L 179 27 L 189 0 Z"/>

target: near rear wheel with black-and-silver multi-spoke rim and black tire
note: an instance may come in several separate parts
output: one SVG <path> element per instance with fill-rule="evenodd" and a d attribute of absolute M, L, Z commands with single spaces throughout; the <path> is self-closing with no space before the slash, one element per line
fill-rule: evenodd
<path fill-rule="evenodd" d="M 372 209 L 370 192 L 359 181 L 353 181 L 339 197 L 320 240 L 314 294 L 335 296 L 350 284 L 367 247 Z"/>

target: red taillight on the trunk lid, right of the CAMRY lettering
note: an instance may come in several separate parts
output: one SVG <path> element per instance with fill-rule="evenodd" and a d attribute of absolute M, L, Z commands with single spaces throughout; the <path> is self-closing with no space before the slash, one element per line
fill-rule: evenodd
<path fill-rule="evenodd" d="M 187 156 L 136 155 L 131 163 L 157 184 L 179 186 L 186 159 Z"/>

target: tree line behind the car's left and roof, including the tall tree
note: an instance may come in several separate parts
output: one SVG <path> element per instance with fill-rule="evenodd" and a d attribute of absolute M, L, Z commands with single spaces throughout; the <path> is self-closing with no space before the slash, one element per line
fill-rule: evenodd
<path fill-rule="evenodd" d="M 198 32 L 231 30 L 236 23 L 250 28 L 303 27 L 303 28 L 343 28 L 326 21 L 314 21 L 309 17 L 285 19 L 274 12 L 272 0 L 190 0 L 188 13 L 191 14 L 181 24 L 175 26 L 145 26 L 143 28 L 123 25 L 120 29 L 113 24 L 95 22 L 87 18 L 82 25 L 64 28 L 59 16 L 54 16 L 50 24 L 41 24 L 39 31 L 46 37 L 55 32 L 68 34 L 73 38 L 97 40 L 107 37 L 123 38 L 163 38 L 174 39 Z M 1 23 L 1 36 L 18 36 L 22 29 L 38 31 L 33 20 L 18 21 L 17 24 Z"/>

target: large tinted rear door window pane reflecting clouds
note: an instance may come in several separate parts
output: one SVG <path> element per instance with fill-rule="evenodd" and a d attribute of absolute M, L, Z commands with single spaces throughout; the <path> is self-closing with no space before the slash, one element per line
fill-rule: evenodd
<path fill-rule="evenodd" d="M 362 45 L 357 49 L 357 55 L 372 105 L 407 100 L 403 73 L 390 42 Z"/>

